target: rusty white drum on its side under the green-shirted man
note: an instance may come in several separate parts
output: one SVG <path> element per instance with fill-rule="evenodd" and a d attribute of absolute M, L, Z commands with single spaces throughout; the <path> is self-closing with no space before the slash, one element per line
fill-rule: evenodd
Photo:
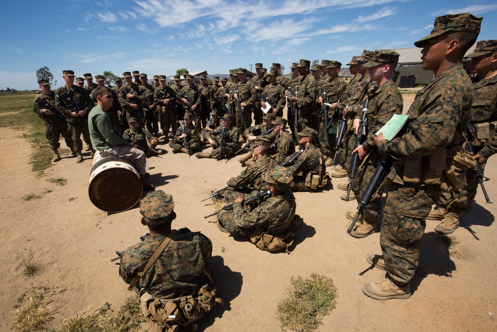
<path fill-rule="evenodd" d="M 126 211 L 140 200 L 142 191 L 140 175 L 131 161 L 95 152 L 88 186 L 95 207 L 106 212 Z"/>

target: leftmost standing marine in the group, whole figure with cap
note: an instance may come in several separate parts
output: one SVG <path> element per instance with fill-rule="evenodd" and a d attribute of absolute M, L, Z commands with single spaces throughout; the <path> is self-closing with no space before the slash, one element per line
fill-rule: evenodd
<path fill-rule="evenodd" d="M 71 149 L 73 155 L 76 155 L 76 151 L 73 146 L 73 139 L 71 138 L 71 133 L 68 129 L 67 120 L 64 115 L 57 116 L 51 109 L 55 109 L 55 93 L 50 90 L 50 82 L 48 80 L 38 81 L 40 85 L 41 93 L 36 95 L 33 100 L 33 112 L 38 114 L 38 116 L 45 121 L 45 137 L 47 137 L 48 144 L 54 152 L 53 162 L 61 160 L 59 155 L 59 138 L 62 135 L 66 141 L 66 145 Z M 45 108 L 44 103 L 48 104 L 49 109 Z M 60 114 L 60 113 L 59 113 Z"/>

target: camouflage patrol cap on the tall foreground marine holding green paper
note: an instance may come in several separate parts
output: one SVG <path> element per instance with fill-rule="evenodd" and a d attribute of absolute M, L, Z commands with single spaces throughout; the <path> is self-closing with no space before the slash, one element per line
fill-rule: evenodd
<path fill-rule="evenodd" d="M 435 18 L 433 30 L 424 38 L 414 42 L 416 47 L 424 47 L 426 42 L 448 31 L 480 33 L 483 17 L 476 17 L 470 13 L 438 16 Z"/>

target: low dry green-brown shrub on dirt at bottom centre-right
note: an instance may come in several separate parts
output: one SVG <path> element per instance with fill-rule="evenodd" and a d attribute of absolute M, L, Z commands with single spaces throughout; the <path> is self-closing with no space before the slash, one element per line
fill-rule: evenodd
<path fill-rule="evenodd" d="M 335 305 L 336 289 L 330 278 L 316 273 L 305 280 L 298 276 L 290 280 L 288 298 L 278 304 L 277 320 L 281 330 L 310 332 L 323 324 Z"/>

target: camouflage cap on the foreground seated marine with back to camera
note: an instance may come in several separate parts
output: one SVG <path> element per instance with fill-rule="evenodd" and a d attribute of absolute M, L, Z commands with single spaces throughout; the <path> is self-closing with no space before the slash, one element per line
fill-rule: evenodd
<path fill-rule="evenodd" d="M 172 195 L 162 190 L 151 191 L 140 200 L 140 213 L 150 224 L 160 225 L 171 220 L 174 211 Z"/>

